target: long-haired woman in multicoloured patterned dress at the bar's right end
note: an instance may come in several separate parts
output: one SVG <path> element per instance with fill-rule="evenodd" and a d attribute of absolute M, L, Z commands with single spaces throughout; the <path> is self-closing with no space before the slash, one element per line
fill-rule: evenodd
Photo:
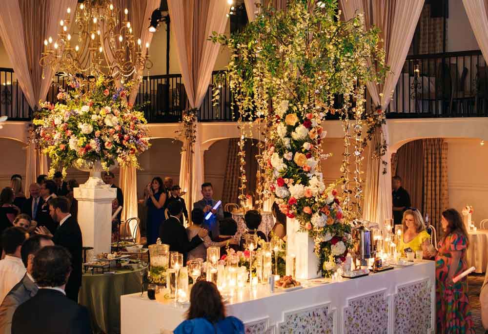
<path fill-rule="evenodd" d="M 467 269 L 468 233 L 461 215 L 455 209 L 444 211 L 441 223 L 444 238 L 439 242 L 439 250 L 433 247 L 428 250 L 430 255 L 435 255 L 436 333 L 474 334 L 468 303 L 468 278 L 452 282 L 455 276 Z"/>

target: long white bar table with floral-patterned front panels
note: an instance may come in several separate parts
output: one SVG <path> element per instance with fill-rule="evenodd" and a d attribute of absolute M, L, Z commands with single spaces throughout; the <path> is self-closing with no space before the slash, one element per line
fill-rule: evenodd
<path fill-rule="evenodd" d="M 235 292 L 227 314 L 240 318 L 246 333 L 433 333 L 435 263 L 340 278 L 321 285 L 274 293 L 267 285 Z M 176 306 L 163 293 L 149 300 L 139 293 L 121 296 L 122 334 L 159 334 L 180 324 L 188 306 Z"/>

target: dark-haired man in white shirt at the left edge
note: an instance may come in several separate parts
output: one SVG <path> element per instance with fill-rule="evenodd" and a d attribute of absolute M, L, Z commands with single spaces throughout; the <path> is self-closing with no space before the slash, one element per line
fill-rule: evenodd
<path fill-rule="evenodd" d="M 0 303 L 25 275 L 20 249 L 27 236 L 27 233 L 18 227 L 8 228 L 1 235 L 5 258 L 0 260 Z"/>

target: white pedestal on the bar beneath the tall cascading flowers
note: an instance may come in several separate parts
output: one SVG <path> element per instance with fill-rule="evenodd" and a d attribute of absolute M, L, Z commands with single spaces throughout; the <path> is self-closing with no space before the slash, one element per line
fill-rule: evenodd
<path fill-rule="evenodd" d="M 319 277 L 319 258 L 314 252 L 314 241 L 308 233 L 299 232 L 300 223 L 296 219 L 286 219 L 286 253 L 296 257 L 296 278 Z M 293 271 L 292 261 L 286 261 L 286 272 Z"/>

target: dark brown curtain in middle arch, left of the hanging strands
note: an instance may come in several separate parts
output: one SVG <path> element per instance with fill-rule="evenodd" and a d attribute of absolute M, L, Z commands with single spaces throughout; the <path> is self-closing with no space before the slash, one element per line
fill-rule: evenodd
<path fill-rule="evenodd" d="M 236 203 L 239 205 L 239 138 L 229 139 L 227 149 L 227 164 L 225 166 L 224 189 L 222 191 L 222 203 Z"/>

